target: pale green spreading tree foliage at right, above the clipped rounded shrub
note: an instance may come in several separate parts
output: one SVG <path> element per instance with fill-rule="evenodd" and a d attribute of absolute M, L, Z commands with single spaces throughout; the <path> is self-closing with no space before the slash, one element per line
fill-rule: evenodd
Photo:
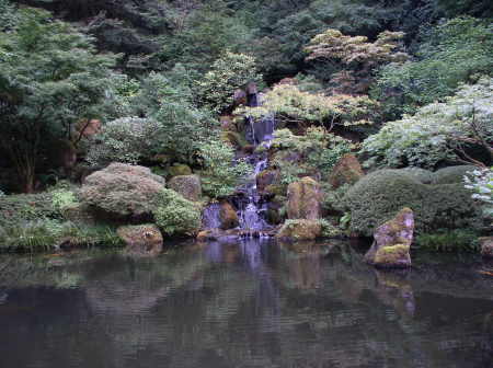
<path fill-rule="evenodd" d="M 445 102 L 387 123 L 364 142 L 364 151 L 387 166 L 434 168 L 443 160 L 468 161 L 465 145 L 488 151 L 493 139 L 493 79 L 462 85 Z"/>

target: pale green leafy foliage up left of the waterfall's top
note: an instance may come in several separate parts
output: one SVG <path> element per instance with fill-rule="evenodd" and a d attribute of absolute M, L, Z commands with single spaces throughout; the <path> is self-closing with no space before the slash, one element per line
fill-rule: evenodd
<path fill-rule="evenodd" d="M 200 102 L 216 113 L 233 102 L 234 91 L 249 82 L 261 81 L 255 59 L 243 54 L 226 53 L 198 82 Z"/>

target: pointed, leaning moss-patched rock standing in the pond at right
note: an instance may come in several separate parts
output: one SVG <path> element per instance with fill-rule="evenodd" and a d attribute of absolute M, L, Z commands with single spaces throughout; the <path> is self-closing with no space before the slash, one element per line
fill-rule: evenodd
<path fill-rule="evenodd" d="M 405 268 L 411 266 L 409 250 L 413 242 L 414 214 L 403 208 L 391 220 L 378 227 L 375 241 L 365 261 L 377 267 Z"/>

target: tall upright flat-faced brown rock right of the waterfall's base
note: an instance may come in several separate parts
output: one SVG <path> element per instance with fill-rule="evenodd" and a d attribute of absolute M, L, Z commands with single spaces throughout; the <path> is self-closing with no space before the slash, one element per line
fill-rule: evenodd
<path fill-rule="evenodd" d="M 321 200 L 320 184 L 306 176 L 288 186 L 287 216 L 289 219 L 317 220 Z"/>

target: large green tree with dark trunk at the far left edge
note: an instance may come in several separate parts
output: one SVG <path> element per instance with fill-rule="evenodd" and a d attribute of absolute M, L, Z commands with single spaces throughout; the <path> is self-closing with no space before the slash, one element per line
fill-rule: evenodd
<path fill-rule="evenodd" d="M 18 12 L 0 34 L 0 148 L 10 157 L 23 192 L 33 192 L 47 142 L 70 139 L 76 124 L 101 118 L 115 56 L 50 14 Z"/>

